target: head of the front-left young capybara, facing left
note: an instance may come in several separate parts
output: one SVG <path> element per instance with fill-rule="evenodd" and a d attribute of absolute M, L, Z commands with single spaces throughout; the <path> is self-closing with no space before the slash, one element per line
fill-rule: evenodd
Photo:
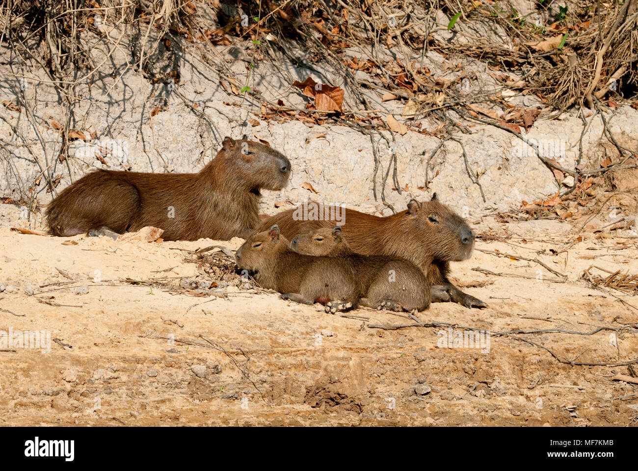
<path fill-rule="evenodd" d="M 277 253 L 288 247 L 286 238 L 279 235 L 279 227 L 257 232 L 237 249 L 235 262 L 240 269 L 265 271 L 277 263 Z"/>

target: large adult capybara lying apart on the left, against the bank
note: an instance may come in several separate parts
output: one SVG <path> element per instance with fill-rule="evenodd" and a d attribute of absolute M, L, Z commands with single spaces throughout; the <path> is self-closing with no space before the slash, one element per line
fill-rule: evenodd
<path fill-rule="evenodd" d="M 290 161 L 259 142 L 226 137 L 197 174 L 97 170 L 71 184 L 47 208 L 54 236 L 117 237 L 145 226 L 168 241 L 247 237 L 260 223 L 259 190 L 281 190 Z"/>

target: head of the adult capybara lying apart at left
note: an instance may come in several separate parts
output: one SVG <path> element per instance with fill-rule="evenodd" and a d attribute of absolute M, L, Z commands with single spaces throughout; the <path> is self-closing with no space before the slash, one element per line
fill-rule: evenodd
<path fill-rule="evenodd" d="M 221 146 L 222 152 L 216 159 L 222 157 L 230 167 L 236 168 L 242 182 L 251 190 L 281 190 L 288 184 L 290 161 L 271 146 L 230 137 L 224 138 Z"/>

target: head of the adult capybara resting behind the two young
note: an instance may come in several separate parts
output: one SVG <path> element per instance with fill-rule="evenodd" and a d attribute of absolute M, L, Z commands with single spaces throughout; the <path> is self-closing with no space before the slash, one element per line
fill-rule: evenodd
<path fill-rule="evenodd" d="M 474 233 L 461 216 L 439 202 L 436 193 L 427 202 L 410 200 L 406 216 L 406 230 L 416 226 L 423 236 L 424 248 L 435 258 L 445 262 L 470 258 Z"/>

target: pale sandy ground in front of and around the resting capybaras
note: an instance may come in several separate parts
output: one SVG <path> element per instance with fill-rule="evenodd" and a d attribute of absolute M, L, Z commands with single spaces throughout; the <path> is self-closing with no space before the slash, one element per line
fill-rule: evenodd
<path fill-rule="evenodd" d="M 576 234 L 567 223 L 477 221 L 477 250 L 452 274 L 489 308 L 433 304 L 420 321 L 457 324 L 455 332 L 614 330 L 492 334 L 489 348 L 441 348 L 443 327 L 374 328 L 414 321 L 366 309 L 339 317 L 286 302 L 214 267 L 219 259 L 211 255 L 186 262 L 195 256 L 179 250 L 235 250 L 241 239 L 25 235 L 8 228 L 15 207 L 0 206 L 0 331 L 48 331 L 57 340 L 48 350 L 0 352 L 3 425 L 637 422 L 638 385 L 611 379 L 635 370 L 561 364 L 542 348 L 581 363 L 638 359 L 635 329 L 616 331 L 638 322 L 638 308 L 619 299 L 638 306 L 638 297 L 581 280 L 590 265 L 638 273 L 638 238 L 630 232 L 581 233 L 570 246 Z M 553 282 L 558 276 L 536 262 L 480 250 L 538 258 L 568 280 Z"/>

